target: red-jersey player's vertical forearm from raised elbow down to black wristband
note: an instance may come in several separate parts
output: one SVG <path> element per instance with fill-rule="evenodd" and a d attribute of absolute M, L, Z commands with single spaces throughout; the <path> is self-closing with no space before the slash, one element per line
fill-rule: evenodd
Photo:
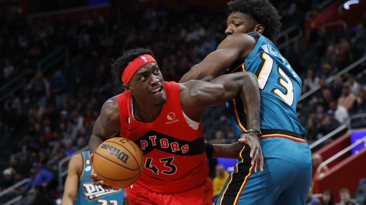
<path fill-rule="evenodd" d="M 260 95 L 257 77 L 251 72 L 247 72 L 245 76 L 241 89 L 241 100 L 246 110 L 247 128 L 248 130 L 260 130 Z"/>

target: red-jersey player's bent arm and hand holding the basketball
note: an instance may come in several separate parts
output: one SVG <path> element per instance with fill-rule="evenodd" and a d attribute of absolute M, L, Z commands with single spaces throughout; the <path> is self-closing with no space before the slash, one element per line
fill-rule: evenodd
<path fill-rule="evenodd" d="M 114 137 L 119 130 L 120 123 L 117 96 L 114 96 L 103 104 L 101 114 L 94 124 L 93 133 L 89 140 L 90 161 L 92 162 L 90 179 L 93 179 L 96 185 L 101 185 L 105 189 L 111 189 L 111 187 L 105 186 L 104 181 L 99 181 L 98 175 L 94 173 L 94 153 L 102 142 Z"/>

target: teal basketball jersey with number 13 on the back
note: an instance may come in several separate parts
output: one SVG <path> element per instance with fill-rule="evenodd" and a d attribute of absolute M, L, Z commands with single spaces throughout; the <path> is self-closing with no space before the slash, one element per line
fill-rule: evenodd
<path fill-rule="evenodd" d="M 257 76 L 261 97 L 260 126 L 263 134 L 279 134 L 284 130 L 304 137 L 306 130 L 300 125 L 296 115 L 297 101 L 301 95 L 300 77 L 268 38 L 258 32 L 248 35 L 258 39 L 255 48 L 245 61 L 234 62 L 223 74 L 249 71 Z M 240 96 L 226 105 L 234 135 L 239 138 L 241 133 L 247 132 L 245 108 Z"/>

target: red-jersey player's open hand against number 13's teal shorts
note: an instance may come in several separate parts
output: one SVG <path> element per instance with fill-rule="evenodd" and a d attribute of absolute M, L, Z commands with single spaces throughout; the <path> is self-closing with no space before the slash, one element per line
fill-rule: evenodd
<path fill-rule="evenodd" d="M 258 165 L 260 165 L 260 171 L 263 172 L 263 152 L 259 143 L 259 138 L 260 135 L 257 133 L 243 133 L 238 140 L 251 147 L 250 157 L 252 158 L 252 165 L 255 164 L 255 173 L 257 173 Z"/>

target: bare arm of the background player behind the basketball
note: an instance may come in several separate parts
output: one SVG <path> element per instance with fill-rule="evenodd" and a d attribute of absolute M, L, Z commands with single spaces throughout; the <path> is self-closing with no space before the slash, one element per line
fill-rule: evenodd
<path fill-rule="evenodd" d="M 68 168 L 68 176 L 65 182 L 62 205 L 73 205 L 75 203 L 78 192 L 79 178 L 82 170 L 82 160 L 81 153 L 71 157 Z"/>

